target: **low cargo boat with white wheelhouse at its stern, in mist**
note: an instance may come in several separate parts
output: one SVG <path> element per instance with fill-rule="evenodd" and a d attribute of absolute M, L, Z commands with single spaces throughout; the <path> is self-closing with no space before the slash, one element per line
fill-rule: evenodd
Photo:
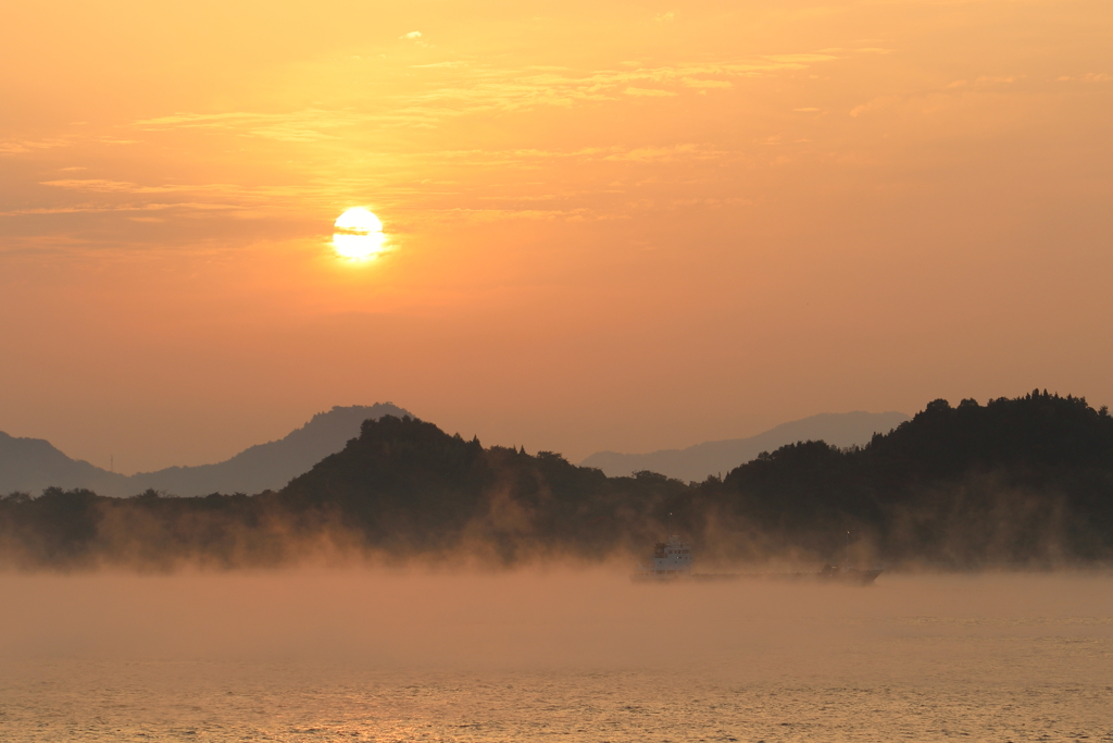
<path fill-rule="evenodd" d="M 638 563 L 637 569 L 630 575 L 630 580 L 633 583 L 708 583 L 740 579 L 816 580 L 868 586 L 881 573 L 883 568 L 860 569 L 851 567 L 849 554 L 845 565 L 828 563 L 824 565 L 823 569 L 814 571 L 692 573 L 691 545 L 679 536 L 672 535 L 668 541 L 659 541 L 653 546 L 653 557 L 649 564 Z"/>

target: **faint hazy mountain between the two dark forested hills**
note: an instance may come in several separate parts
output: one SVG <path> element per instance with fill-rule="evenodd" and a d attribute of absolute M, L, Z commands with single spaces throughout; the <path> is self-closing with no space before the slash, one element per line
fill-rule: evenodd
<path fill-rule="evenodd" d="M 898 412 L 820 413 L 781 423 L 748 439 L 707 441 L 687 449 L 662 449 L 647 454 L 600 451 L 580 465 L 597 467 L 609 477 L 649 470 L 684 482 L 702 482 L 708 476 L 729 472 L 762 451 L 774 451 L 797 441 L 826 441 L 833 447 L 865 446 L 874 433 L 887 433 L 907 420 L 909 416 Z"/>

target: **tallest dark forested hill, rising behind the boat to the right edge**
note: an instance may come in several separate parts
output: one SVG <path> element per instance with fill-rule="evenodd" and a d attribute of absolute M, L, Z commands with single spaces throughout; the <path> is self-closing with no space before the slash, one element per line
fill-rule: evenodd
<path fill-rule="evenodd" d="M 782 447 L 697 490 L 692 517 L 745 525 L 755 555 L 781 544 L 833 553 L 849 529 L 895 561 L 1109 560 L 1113 417 L 1038 390 L 987 405 L 935 400 L 866 447 Z"/>

